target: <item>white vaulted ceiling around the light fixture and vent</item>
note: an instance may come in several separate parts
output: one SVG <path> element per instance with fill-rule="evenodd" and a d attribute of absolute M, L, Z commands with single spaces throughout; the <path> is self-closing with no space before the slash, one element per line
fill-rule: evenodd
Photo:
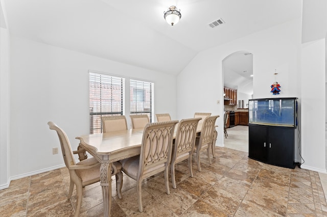
<path fill-rule="evenodd" d="M 301 16 L 298 0 L 0 1 L 12 35 L 173 75 L 199 51 Z M 172 5 L 174 26 L 164 19 Z"/>

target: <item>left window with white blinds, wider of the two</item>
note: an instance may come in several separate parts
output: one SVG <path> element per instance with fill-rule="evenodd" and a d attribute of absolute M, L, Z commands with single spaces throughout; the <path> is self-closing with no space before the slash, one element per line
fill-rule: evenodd
<path fill-rule="evenodd" d="M 102 132 L 102 116 L 123 115 L 125 78 L 89 72 L 90 134 Z"/>

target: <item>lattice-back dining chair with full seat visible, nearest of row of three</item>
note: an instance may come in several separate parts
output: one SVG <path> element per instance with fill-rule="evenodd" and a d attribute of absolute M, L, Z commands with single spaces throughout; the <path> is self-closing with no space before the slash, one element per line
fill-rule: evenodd
<path fill-rule="evenodd" d="M 166 193 L 169 195 L 169 163 L 174 128 L 178 121 L 148 123 L 143 131 L 140 155 L 122 159 L 123 172 L 136 180 L 138 210 L 143 212 L 142 180 L 165 171 Z"/>

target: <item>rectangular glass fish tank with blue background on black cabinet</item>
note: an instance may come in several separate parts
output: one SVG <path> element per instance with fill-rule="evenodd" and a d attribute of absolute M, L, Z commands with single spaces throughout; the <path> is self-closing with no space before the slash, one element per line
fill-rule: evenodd
<path fill-rule="evenodd" d="M 297 127 L 297 98 L 249 99 L 249 123 Z"/>

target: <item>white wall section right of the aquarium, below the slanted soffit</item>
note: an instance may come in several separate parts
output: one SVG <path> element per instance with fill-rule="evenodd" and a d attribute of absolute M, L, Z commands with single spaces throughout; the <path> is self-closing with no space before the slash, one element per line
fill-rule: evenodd
<path fill-rule="evenodd" d="M 302 168 L 325 170 L 325 39 L 302 45 Z"/>

